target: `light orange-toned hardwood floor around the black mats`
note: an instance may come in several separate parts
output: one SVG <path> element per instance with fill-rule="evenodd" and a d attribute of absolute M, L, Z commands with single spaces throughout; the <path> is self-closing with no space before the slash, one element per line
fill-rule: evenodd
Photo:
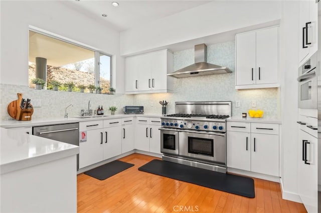
<path fill-rule="evenodd" d="M 78 212 L 306 212 L 282 199 L 277 182 L 253 178 L 255 198 L 247 198 L 138 170 L 155 158 L 125 156 L 120 160 L 135 165 L 105 180 L 79 174 Z"/>

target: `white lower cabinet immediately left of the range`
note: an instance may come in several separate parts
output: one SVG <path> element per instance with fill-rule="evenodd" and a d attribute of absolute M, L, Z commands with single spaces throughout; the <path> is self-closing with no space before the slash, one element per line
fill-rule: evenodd
<path fill-rule="evenodd" d="M 161 153 L 161 119 L 137 117 L 135 148 L 142 151 Z"/>

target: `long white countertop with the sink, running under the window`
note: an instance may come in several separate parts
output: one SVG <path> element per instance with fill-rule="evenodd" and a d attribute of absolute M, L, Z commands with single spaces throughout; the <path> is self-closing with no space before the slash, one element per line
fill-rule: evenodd
<path fill-rule="evenodd" d="M 25 126 L 39 126 L 39 125 L 52 125 L 52 124 L 62 124 L 62 123 L 72 123 L 72 122 L 81 122 L 88 120 L 102 120 L 102 119 L 112 119 L 112 118 L 122 118 L 122 117 L 161 117 L 161 114 L 115 114 L 115 115 L 104 115 L 101 117 L 88 117 L 88 118 L 79 118 L 79 117 L 48 117 L 41 119 L 32 119 L 32 120 L 1 120 L 0 127 L 3 128 L 13 128 L 13 127 L 25 127 Z"/>

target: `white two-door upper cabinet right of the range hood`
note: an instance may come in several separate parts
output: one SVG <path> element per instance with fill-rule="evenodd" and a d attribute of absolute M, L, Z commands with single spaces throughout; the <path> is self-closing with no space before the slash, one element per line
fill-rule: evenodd
<path fill-rule="evenodd" d="M 236 35 L 236 89 L 278 87 L 278 26 Z"/>

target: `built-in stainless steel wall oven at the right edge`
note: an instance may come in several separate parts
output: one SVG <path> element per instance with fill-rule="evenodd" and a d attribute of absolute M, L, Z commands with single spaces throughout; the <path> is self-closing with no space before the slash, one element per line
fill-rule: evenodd
<path fill-rule="evenodd" d="M 314 53 L 298 69 L 298 107 L 317 108 L 318 66 L 317 55 Z"/>

